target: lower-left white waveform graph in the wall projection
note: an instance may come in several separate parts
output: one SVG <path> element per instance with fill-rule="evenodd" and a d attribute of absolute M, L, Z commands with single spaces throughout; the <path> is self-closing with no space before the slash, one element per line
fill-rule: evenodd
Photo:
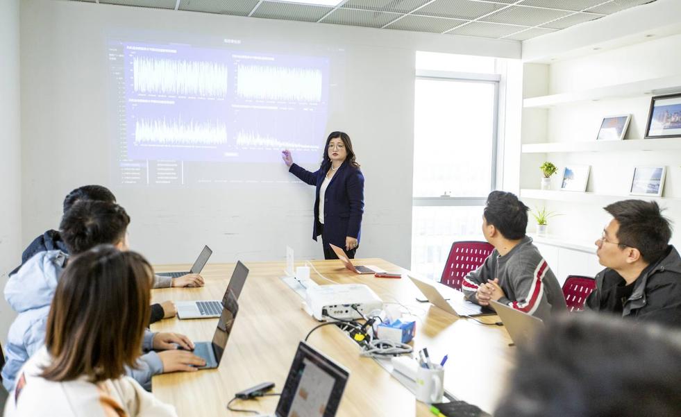
<path fill-rule="evenodd" d="M 135 145 L 217 146 L 227 143 L 227 126 L 221 121 L 184 122 L 182 119 L 135 121 Z"/>

